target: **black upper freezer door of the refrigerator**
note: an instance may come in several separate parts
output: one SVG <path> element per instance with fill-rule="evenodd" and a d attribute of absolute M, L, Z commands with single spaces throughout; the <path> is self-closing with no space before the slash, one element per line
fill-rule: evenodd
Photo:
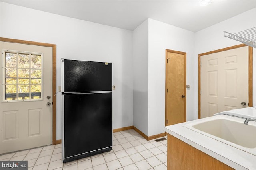
<path fill-rule="evenodd" d="M 64 60 L 64 93 L 112 91 L 112 63 Z"/>

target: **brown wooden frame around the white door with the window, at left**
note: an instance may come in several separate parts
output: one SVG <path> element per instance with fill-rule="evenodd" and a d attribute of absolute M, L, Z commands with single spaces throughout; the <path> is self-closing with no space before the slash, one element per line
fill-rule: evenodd
<path fill-rule="evenodd" d="M 43 47 L 52 47 L 52 145 L 56 145 L 56 45 L 2 37 L 0 37 L 0 41 L 27 45 L 38 45 Z"/>

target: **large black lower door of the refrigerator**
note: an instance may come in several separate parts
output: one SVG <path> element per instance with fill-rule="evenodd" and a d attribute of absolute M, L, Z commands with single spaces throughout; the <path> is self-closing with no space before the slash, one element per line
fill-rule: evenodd
<path fill-rule="evenodd" d="M 112 149 L 112 92 L 64 95 L 64 160 Z"/>

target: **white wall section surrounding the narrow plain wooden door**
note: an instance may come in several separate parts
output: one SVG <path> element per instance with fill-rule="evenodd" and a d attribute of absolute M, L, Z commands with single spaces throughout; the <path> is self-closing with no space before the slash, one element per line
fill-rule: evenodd
<path fill-rule="evenodd" d="M 165 126 L 165 49 L 187 53 L 186 119 L 194 115 L 194 33 L 160 21 L 148 20 L 148 136 L 164 133 Z"/>

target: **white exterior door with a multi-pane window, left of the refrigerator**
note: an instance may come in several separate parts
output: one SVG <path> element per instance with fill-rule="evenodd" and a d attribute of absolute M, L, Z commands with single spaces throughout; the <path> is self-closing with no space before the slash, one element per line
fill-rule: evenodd
<path fill-rule="evenodd" d="M 52 47 L 0 50 L 0 154 L 52 144 Z"/>

